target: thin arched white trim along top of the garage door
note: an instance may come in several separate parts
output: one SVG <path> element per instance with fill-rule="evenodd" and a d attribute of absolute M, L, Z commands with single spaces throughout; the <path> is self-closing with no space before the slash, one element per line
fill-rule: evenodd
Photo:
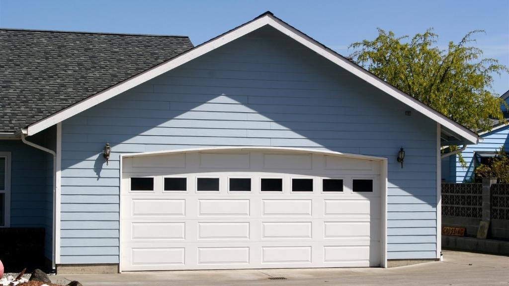
<path fill-rule="evenodd" d="M 169 155 L 169 154 L 175 154 L 175 153 L 190 153 L 190 152 L 201 152 L 201 151 L 221 152 L 221 151 L 257 151 L 257 150 L 276 151 L 276 152 L 293 152 L 293 153 L 315 153 L 315 154 L 322 154 L 322 155 L 333 155 L 333 156 L 341 156 L 341 157 L 363 159 L 363 160 L 375 160 L 375 161 L 387 160 L 387 158 L 384 158 L 384 157 L 341 153 L 341 152 L 328 151 L 328 150 L 305 149 L 305 148 L 287 148 L 287 147 L 260 147 L 260 146 L 204 147 L 204 148 L 176 149 L 176 150 L 155 151 L 155 152 L 124 153 L 124 154 L 120 154 L 120 156 L 123 159 L 125 159 L 125 158 L 133 158 L 133 157 L 158 156 L 158 155 Z"/>

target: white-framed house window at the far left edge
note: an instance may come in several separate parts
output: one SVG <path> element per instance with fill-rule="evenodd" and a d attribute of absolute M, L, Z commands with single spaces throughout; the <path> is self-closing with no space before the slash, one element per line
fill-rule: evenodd
<path fill-rule="evenodd" d="M 10 224 L 10 156 L 9 152 L 0 152 L 0 227 Z"/>

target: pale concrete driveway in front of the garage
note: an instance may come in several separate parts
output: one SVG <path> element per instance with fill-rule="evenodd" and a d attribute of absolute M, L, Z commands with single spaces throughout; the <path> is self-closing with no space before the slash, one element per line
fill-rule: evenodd
<path fill-rule="evenodd" d="M 122 274 L 66 274 L 53 282 L 77 280 L 83 286 L 123 285 L 506 285 L 509 257 L 443 251 L 443 262 L 397 268 L 321 268 L 208 271 L 124 272 Z M 270 277 L 285 277 L 271 280 Z"/>

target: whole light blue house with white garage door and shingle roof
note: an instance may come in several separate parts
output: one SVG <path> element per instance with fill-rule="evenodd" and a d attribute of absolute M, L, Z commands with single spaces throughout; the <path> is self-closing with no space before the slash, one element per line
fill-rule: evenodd
<path fill-rule="evenodd" d="M 59 273 L 440 258 L 440 147 L 477 134 L 270 12 L 196 47 L 0 37 L 0 222 Z"/>

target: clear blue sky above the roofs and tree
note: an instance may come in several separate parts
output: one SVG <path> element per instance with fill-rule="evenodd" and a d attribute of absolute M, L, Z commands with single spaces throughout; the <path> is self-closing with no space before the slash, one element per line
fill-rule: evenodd
<path fill-rule="evenodd" d="M 509 66 L 509 0 L 0 0 L 0 27 L 186 35 L 197 45 L 267 10 L 343 55 L 377 27 L 397 35 L 433 27 L 441 47 L 485 30 L 474 45 Z M 509 75 L 494 78 L 496 93 L 509 90 Z"/>

